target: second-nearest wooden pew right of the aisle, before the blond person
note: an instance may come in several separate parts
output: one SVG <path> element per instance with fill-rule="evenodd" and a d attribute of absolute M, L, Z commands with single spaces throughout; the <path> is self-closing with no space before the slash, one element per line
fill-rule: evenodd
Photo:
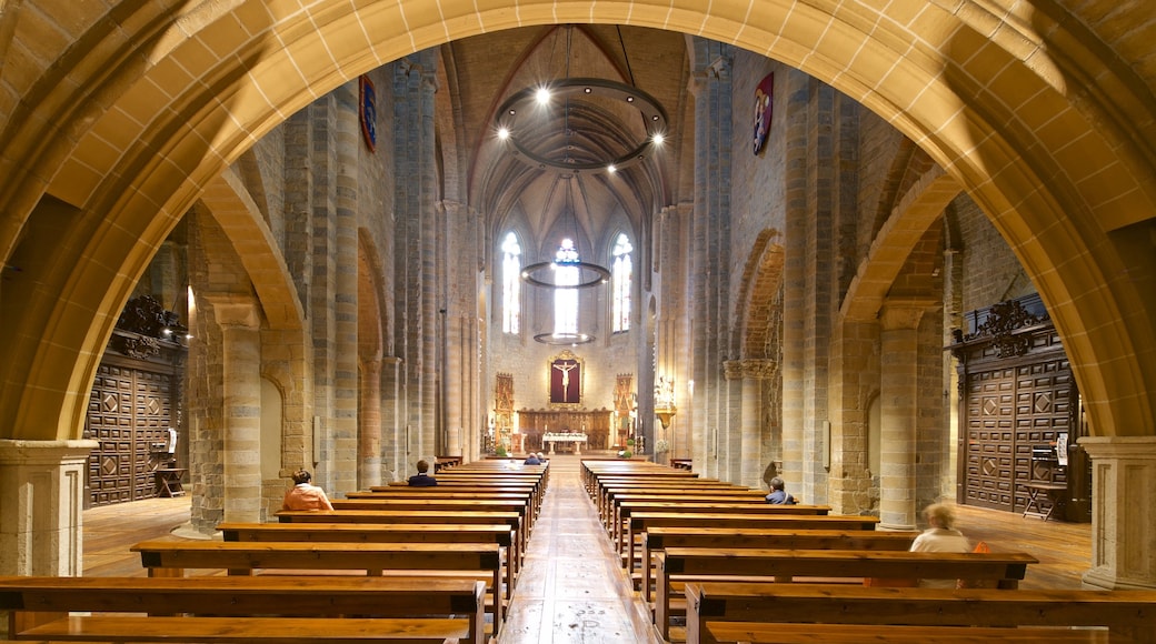
<path fill-rule="evenodd" d="M 1023 553 L 912 553 L 896 551 L 783 551 L 762 548 L 666 548 L 655 553 L 654 624 L 669 639 L 673 582 L 712 577 L 790 583 L 795 577 L 861 582 L 866 577 L 998 581 L 1014 589 L 1029 563 Z M 716 579 L 724 581 L 724 579 Z M 734 581 L 734 579 L 731 579 Z"/>

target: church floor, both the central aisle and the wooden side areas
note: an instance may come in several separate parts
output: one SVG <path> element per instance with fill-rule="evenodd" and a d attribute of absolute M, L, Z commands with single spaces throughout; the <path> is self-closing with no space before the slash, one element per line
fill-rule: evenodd
<path fill-rule="evenodd" d="M 556 456 L 498 644 L 660 643 L 606 538 L 578 475 L 578 457 Z M 146 576 L 133 544 L 188 522 L 190 500 L 151 499 L 84 511 L 84 575 Z M 1079 589 L 1091 566 L 1089 524 L 957 508 L 958 527 L 995 551 L 1027 552 L 1024 589 Z"/>

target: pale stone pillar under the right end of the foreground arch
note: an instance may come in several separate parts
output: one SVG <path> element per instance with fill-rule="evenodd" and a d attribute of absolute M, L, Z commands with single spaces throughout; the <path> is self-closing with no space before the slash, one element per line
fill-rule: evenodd
<path fill-rule="evenodd" d="M 1156 436 L 1085 436 L 1091 458 L 1087 587 L 1156 590 Z"/>

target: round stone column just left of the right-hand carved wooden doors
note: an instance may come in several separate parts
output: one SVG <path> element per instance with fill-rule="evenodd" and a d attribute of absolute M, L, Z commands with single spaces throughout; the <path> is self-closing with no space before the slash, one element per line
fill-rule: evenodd
<path fill-rule="evenodd" d="M 916 427 L 921 306 L 884 304 L 880 312 L 880 527 L 916 527 Z"/>

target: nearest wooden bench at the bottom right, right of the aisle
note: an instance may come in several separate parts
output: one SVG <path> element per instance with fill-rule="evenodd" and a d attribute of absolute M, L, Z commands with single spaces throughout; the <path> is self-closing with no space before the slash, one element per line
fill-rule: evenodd
<path fill-rule="evenodd" d="M 810 634 L 808 642 L 877 642 L 887 641 L 881 638 L 888 635 L 921 636 L 921 642 L 954 642 L 957 635 L 985 637 L 988 642 L 1006 642 L 1016 636 L 1033 637 L 1036 642 L 1068 641 L 1061 639 L 1064 637 L 1088 642 L 1079 638 L 1096 632 L 1008 627 L 1106 627 L 1112 642 L 1121 638 L 1127 642 L 1156 642 L 1156 592 L 1153 591 L 1007 592 L 986 589 L 688 583 L 684 592 L 688 644 L 791 642 L 794 639 L 781 637 L 792 624 L 802 624 L 799 628 Z M 884 626 L 889 628 L 881 628 Z M 891 627 L 898 630 L 892 634 Z M 951 627 L 975 630 L 954 634 Z M 710 629 L 717 630 L 711 634 Z M 744 631 L 746 635 L 735 637 Z M 858 639 L 837 639 L 855 634 Z"/>

